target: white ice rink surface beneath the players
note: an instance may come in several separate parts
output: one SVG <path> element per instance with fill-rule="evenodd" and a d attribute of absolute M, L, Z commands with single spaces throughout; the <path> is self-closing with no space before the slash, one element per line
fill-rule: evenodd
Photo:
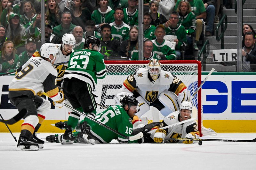
<path fill-rule="evenodd" d="M 39 133 L 45 140 L 50 133 Z M 19 138 L 19 133 L 14 133 Z M 256 133 L 218 133 L 204 138 L 254 139 Z M 5 170 L 175 170 L 256 169 L 256 143 L 44 144 L 39 151 L 17 151 L 10 133 L 0 133 L 0 169 Z"/>

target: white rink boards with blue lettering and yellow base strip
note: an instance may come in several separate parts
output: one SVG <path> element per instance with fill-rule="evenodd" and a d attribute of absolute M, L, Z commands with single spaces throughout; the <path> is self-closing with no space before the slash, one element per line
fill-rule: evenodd
<path fill-rule="evenodd" d="M 202 73 L 202 80 L 208 73 Z M 8 101 L 8 84 L 14 76 L 0 77 L 0 113 L 5 119 L 18 113 Z M 203 124 L 216 132 L 256 132 L 256 73 L 212 73 L 202 87 Z M 67 120 L 65 108 L 52 106 L 46 116 L 41 132 L 61 132 L 51 126 Z M 20 121 L 10 128 L 20 131 Z M 0 132 L 7 132 L 0 123 Z"/>

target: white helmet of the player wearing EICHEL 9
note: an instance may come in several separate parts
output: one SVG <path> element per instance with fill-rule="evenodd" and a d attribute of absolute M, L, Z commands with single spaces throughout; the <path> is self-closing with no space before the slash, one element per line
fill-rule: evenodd
<path fill-rule="evenodd" d="M 52 60 L 50 59 L 51 54 L 54 56 Z M 51 61 L 53 61 L 56 57 L 59 56 L 59 49 L 55 44 L 45 43 L 40 48 L 40 55 L 44 58 L 49 58 Z"/>

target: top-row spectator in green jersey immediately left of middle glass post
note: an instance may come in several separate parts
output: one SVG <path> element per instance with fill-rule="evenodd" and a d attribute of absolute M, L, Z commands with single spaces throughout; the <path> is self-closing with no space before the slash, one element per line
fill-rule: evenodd
<path fill-rule="evenodd" d="M 136 4 L 138 0 L 129 0 L 128 1 L 128 8 L 124 8 L 124 18 L 123 21 L 128 26 L 138 26 L 138 15 L 139 11 L 136 9 Z"/>

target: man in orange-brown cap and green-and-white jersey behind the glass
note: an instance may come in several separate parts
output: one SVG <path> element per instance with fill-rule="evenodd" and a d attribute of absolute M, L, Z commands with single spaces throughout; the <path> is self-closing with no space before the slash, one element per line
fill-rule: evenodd
<path fill-rule="evenodd" d="M 153 40 L 153 52 L 161 57 L 161 60 L 175 60 L 177 58 L 175 50 L 171 48 L 170 41 L 164 40 L 165 27 L 160 24 L 155 30 L 156 40 Z"/>

